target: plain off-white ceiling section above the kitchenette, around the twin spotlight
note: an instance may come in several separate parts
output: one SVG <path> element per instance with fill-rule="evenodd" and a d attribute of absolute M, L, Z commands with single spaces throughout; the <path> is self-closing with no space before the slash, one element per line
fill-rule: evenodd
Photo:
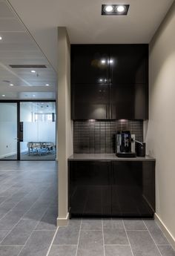
<path fill-rule="evenodd" d="M 174 0 L 9 0 L 57 70 L 57 30 L 79 44 L 149 43 Z M 101 16 L 102 4 L 130 4 L 128 16 Z"/>

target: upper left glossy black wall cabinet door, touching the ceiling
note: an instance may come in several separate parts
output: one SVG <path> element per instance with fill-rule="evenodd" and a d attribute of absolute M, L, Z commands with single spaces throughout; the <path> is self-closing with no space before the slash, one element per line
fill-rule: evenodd
<path fill-rule="evenodd" d="M 71 45 L 71 83 L 108 82 L 109 50 L 107 45 Z"/>

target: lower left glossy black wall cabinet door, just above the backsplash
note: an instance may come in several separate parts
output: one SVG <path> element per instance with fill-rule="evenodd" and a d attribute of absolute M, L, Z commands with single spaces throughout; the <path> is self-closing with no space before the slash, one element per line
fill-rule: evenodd
<path fill-rule="evenodd" d="M 109 85 L 73 85 L 72 119 L 108 119 Z"/>

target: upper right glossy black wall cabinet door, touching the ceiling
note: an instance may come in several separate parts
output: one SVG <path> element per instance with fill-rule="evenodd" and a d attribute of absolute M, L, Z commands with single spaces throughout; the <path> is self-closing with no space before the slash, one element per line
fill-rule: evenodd
<path fill-rule="evenodd" d="M 148 83 L 148 45 L 110 45 L 110 83 Z"/>

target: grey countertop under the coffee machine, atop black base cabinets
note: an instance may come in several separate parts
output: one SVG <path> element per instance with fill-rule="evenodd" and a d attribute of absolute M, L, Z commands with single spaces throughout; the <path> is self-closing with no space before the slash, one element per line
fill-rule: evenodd
<path fill-rule="evenodd" d="M 68 161 L 113 160 L 113 161 L 156 161 L 153 157 L 116 157 L 116 154 L 73 154 Z"/>

